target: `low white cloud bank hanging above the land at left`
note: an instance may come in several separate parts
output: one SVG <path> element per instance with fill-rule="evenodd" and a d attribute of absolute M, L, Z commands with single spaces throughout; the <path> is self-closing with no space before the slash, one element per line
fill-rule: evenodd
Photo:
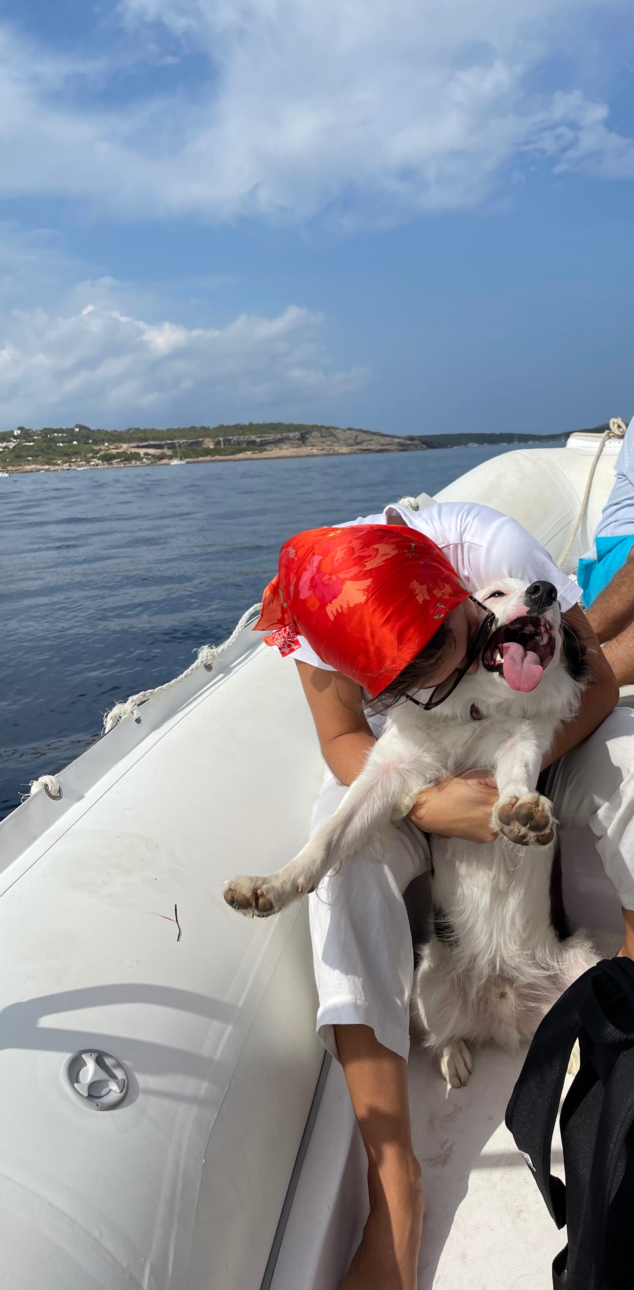
<path fill-rule="evenodd" d="M 320 313 L 289 306 L 214 326 L 207 297 L 193 307 L 205 325 L 191 325 L 191 285 L 183 298 L 170 281 L 90 277 L 54 233 L 0 223 L 0 430 L 345 415 L 367 372 L 334 369 Z"/>

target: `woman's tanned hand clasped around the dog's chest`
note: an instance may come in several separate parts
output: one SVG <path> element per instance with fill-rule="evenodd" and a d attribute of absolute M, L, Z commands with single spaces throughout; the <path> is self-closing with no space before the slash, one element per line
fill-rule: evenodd
<path fill-rule="evenodd" d="M 491 814 L 497 799 L 495 779 L 486 770 L 469 770 L 424 788 L 408 818 L 425 833 L 492 842 L 497 835 L 491 829 Z"/>

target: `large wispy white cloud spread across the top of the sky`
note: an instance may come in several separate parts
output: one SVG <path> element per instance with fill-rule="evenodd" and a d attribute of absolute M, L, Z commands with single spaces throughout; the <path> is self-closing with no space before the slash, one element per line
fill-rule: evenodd
<path fill-rule="evenodd" d="M 584 23 L 625 0 L 121 0 L 130 53 L 180 81 L 108 108 L 107 53 L 0 39 L 0 194 L 110 215 L 380 224 L 472 206 L 509 168 L 634 174 L 584 88 Z M 157 32 L 170 48 L 161 49 Z M 188 58 L 209 76 L 191 86 Z M 175 59 L 180 58 L 180 63 Z M 566 61 L 566 89 L 535 89 Z M 561 75 L 563 75 L 561 72 Z M 570 89 L 570 79 L 577 83 Z M 177 86 L 177 88 L 174 88 Z M 103 99 L 106 101 L 106 99 Z"/>

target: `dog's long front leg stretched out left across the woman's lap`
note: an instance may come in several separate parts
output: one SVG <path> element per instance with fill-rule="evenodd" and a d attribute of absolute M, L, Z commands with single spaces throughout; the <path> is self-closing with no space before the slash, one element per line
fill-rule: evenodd
<path fill-rule="evenodd" d="M 418 792 L 437 775 L 438 766 L 419 749 L 403 749 L 381 738 L 341 805 L 295 859 L 268 877 L 232 878 L 224 888 L 227 904 L 238 913 L 267 917 L 314 891 L 329 869 L 344 864 L 390 820 L 402 819 Z"/>

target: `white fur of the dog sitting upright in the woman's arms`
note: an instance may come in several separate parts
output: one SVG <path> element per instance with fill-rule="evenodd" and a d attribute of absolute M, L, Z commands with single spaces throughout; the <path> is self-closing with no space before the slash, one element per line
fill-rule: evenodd
<path fill-rule="evenodd" d="M 452 1085 L 469 1078 L 465 1040 L 506 1046 L 530 1040 L 559 993 L 597 961 L 581 933 L 559 939 L 553 928 L 555 820 L 552 804 L 535 792 L 544 753 L 577 711 L 581 655 L 571 637 L 567 654 L 570 628 L 562 631 L 557 601 L 535 614 L 526 592 L 526 583 L 505 579 L 477 599 L 496 613 L 499 627 L 530 614 L 548 628 L 553 658 L 536 689 L 510 689 L 501 670 L 481 664 L 430 712 L 398 703 L 341 805 L 299 855 L 265 878 L 233 878 L 224 893 L 241 913 L 274 913 L 314 890 L 334 866 L 369 854 L 421 788 L 472 769 L 491 773 L 500 795 L 496 840 L 432 838 L 436 926 L 414 980 L 412 1029 L 438 1054 Z"/>

